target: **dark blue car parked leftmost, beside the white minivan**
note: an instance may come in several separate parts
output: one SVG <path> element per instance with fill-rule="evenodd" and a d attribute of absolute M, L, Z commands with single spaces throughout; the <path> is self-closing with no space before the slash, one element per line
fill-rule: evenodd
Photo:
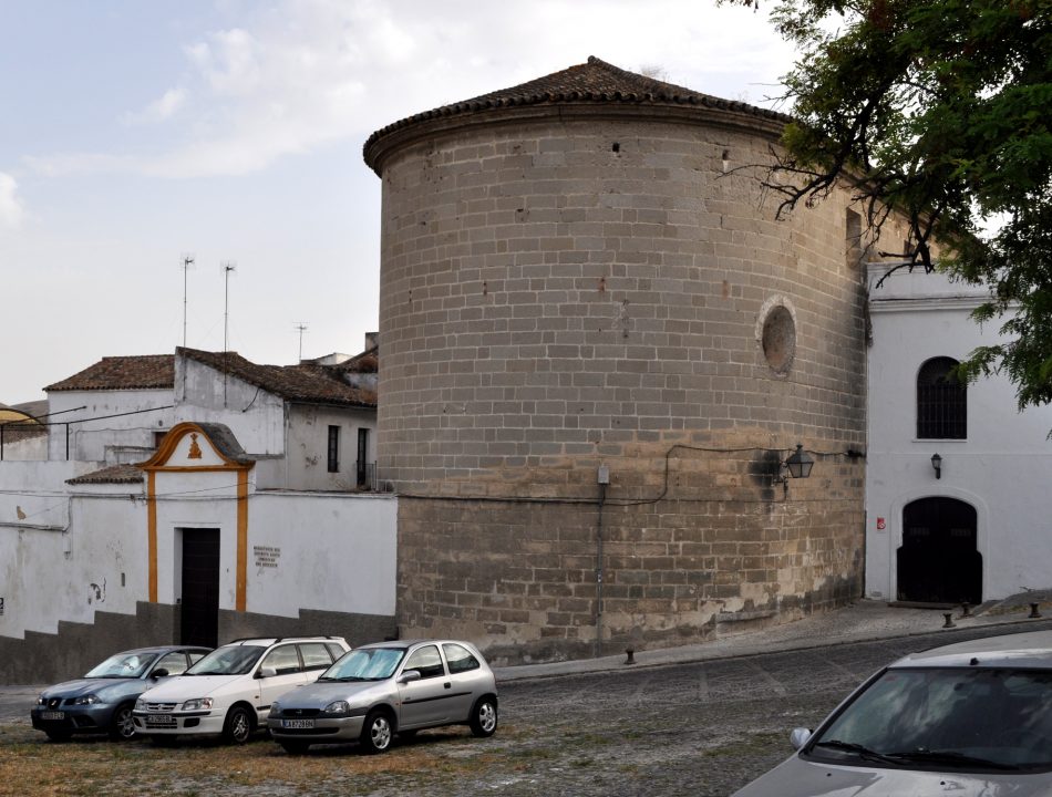
<path fill-rule="evenodd" d="M 33 727 L 55 742 L 64 742 L 76 733 L 131 738 L 135 735 L 135 700 L 159 679 L 181 675 L 209 650 L 162 645 L 112 655 L 84 677 L 41 692 L 31 712 Z"/>

